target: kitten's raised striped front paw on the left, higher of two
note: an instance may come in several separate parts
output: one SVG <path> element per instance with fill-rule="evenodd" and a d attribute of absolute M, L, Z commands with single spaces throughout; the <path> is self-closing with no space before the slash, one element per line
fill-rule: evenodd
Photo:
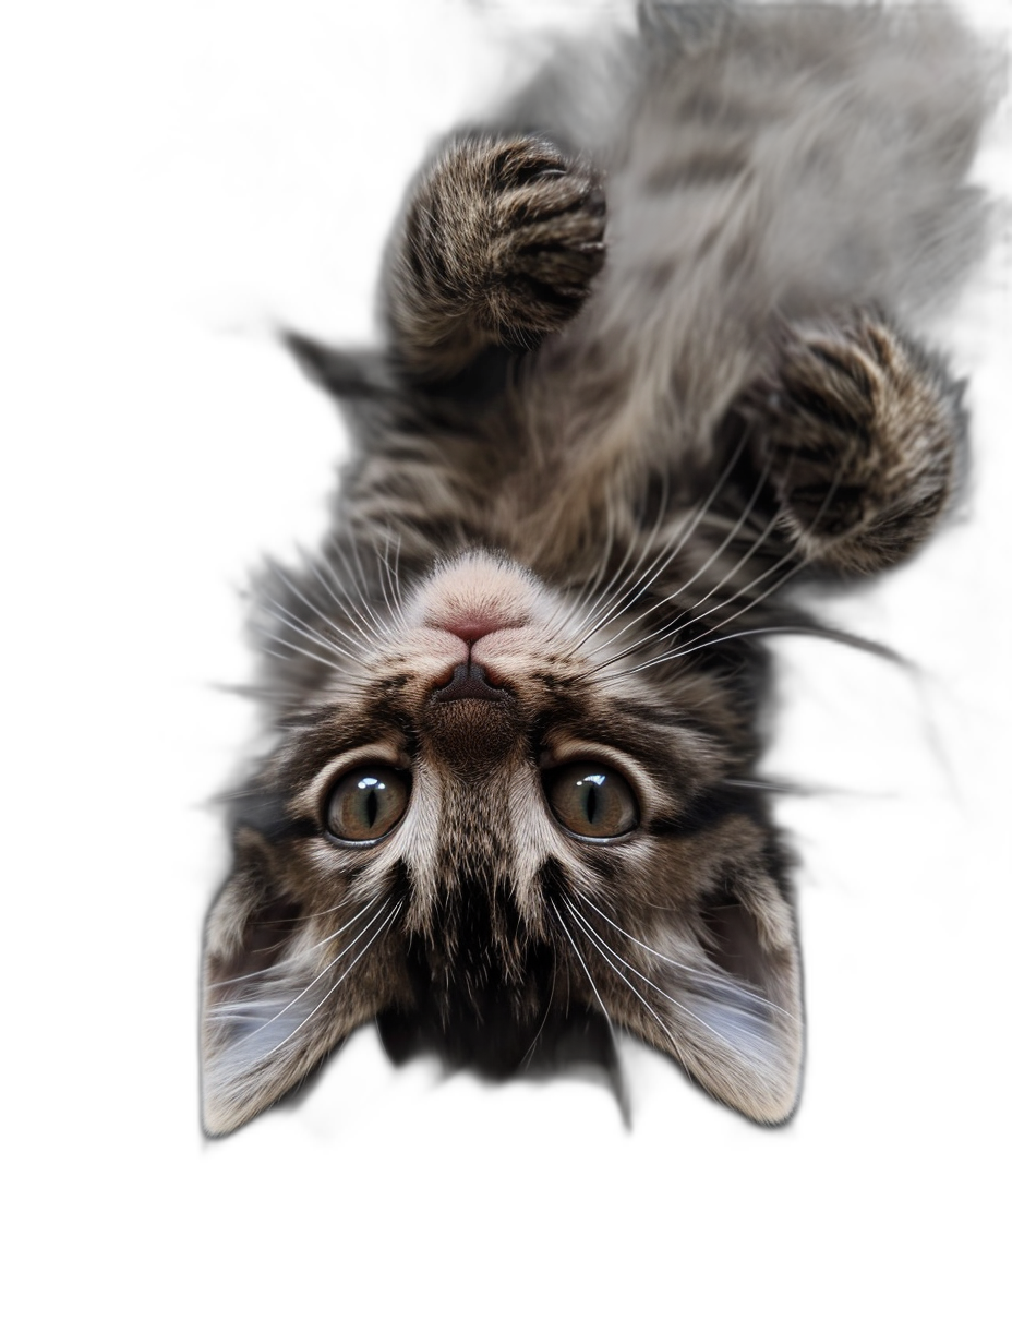
<path fill-rule="evenodd" d="M 605 258 L 589 161 L 546 138 L 452 141 L 421 173 L 387 249 L 382 317 L 409 367 L 461 372 L 527 349 L 582 306 Z"/>

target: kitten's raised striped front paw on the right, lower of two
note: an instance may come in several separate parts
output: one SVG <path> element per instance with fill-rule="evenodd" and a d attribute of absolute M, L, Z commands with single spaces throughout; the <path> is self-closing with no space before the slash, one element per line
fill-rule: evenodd
<path fill-rule="evenodd" d="M 802 554 L 875 574 L 934 534 L 958 477 L 957 398 L 875 316 L 785 323 L 775 372 L 749 405 Z"/>

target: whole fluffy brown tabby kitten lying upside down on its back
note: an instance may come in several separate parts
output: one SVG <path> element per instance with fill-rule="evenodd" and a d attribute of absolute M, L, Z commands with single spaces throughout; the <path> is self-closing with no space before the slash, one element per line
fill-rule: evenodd
<path fill-rule="evenodd" d="M 797 1105 L 765 649 L 958 496 L 903 324 L 972 259 L 992 82 L 934 9 L 663 11 L 626 65 L 613 125 L 433 156 L 367 352 L 280 337 L 357 452 L 319 552 L 254 583 L 208 1133 L 374 1020 L 492 1079 L 628 1034 L 751 1120 Z"/>

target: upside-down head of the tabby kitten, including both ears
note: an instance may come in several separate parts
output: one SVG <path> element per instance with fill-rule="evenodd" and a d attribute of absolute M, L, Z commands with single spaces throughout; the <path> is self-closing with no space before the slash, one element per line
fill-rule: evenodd
<path fill-rule="evenodd" d="M 331 630 L 310 708 L 241 800 L 211 919 L 211 1133 L 372 1019 L 394 1056 L 493 1077 L 564 1071 L 590 1019 L 754 1118 L 792 1109 L 792 859 L 727 784 L 731 696 L 636 671 L 629 613 L 624 642 L 597 624 L 474 550 Z"/>

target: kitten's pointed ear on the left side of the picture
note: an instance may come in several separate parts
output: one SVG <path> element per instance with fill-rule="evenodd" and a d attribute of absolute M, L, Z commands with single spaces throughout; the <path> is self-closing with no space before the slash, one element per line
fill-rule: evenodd
<path fill-rule="evenodd" d="M 270 845 L 254 831 L 239 831 L 235 874 L 204 939 L 200 1054 L 208 1134 L 230 1133 L 271 1105 L 362 1020 L 337 1000 L 340 978 L 335 982 L 325 950 L 316 922 L 278 878 Z"/>

